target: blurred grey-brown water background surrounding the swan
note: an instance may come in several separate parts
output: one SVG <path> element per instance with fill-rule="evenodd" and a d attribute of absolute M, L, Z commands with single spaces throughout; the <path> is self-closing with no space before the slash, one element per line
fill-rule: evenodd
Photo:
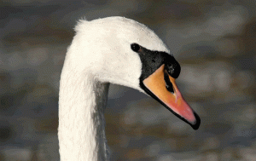
<path fill-rule="evenodd" d="M 256 160 L 254 0 L 1 0 L 0 160 L 59 160 L 58 91 L 77 20 L 137 20 L 182 66 L 177 85 L 201 117 L 193 130 L 158 102 L 111 84 L 112 160 Z"/>

